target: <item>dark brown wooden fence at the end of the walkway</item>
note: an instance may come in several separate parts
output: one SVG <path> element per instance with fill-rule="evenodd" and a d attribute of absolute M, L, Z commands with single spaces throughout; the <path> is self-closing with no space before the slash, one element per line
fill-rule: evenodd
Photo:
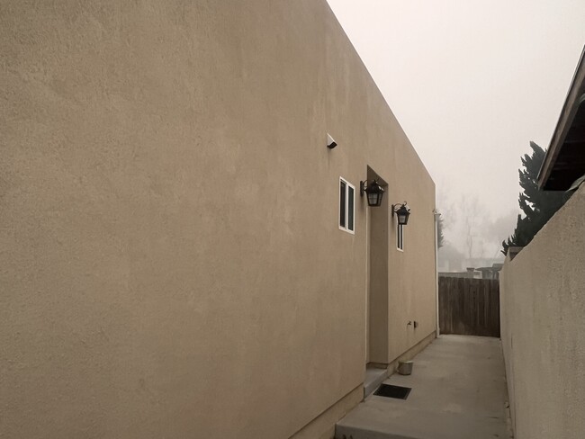
<path fill-rule="evenodd" d="M 441 334 L 500 336 L 500 281 L 439 276 Z"/>

